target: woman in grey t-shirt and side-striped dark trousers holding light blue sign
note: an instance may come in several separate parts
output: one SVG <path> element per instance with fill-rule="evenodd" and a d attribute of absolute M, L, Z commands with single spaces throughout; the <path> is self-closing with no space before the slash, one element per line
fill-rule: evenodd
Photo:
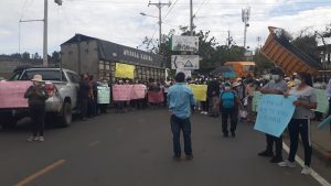
<path fill-rule="evenodd" d="M 295 96 L 298 100 L 293 102 L 296 106 L 295 113 L 288 125 L 290 135 L 290 152 L 288 160 L 280 162 L 279 166 L 295 167 L 295 157 L 298 151 L 299 133 L 305 147 L 305 166 L 301 174 L 310 174 L 311 162 L 311 141 L 310 141 L 310 119 L 312 118 L 311 109 L 317 108 L 317 96 L 312 88 L 311 76 L 307 73 L 299 73 L 299 85 L 284 94 L 285 97 Z"/>

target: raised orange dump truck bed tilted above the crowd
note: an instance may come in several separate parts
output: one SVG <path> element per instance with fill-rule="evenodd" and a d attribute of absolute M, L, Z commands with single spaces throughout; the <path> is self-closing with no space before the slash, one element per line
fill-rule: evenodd
<path fill-rule="evenodd" d="M 313 76 L 322 69 L 320 63 L 292 45 L 288 39 L 284 37 L 284 30 L 269 26 L 269 36 L 261 48 L 261 53 L 281 68 L 287 75 L 306 72 Z"/>

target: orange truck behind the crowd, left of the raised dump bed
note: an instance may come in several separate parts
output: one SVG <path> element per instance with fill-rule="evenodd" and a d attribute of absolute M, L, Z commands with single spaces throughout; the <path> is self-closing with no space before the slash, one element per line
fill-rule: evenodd
<path fill-rule="evenodd" d="M 235 70 L 236 77 L 254 76 L 254 62 L 226 62 L 224 65 L 231 66 Z"/>

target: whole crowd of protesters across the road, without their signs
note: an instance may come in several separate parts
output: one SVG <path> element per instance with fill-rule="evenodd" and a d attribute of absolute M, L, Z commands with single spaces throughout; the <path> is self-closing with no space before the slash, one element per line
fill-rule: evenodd
<path fill-rule="evenodd" d="M 35 120 L 33 127 L 33 135 L 29 141 L 38 140 L 43 141 L 43 117 L 46 91 L 40 86 L 42 77 L 35 76 L 33 86 L 30 87 L 25 94 L 29 99 L 29 106 L 32 110 L 32 119 Z M 193 100 L 193 94 L 185 85 L 205 85 L 206 100 Z M 171 110 L 171 128 L 173 132 L 173 150 L 174 158 L 180 158 L 180 130 L 183 130 L 185 142 L 186 157 L 192 160 L 191 146 L 191 111 L 200 112 L 209 117 L 218 118 L 221 116 L 222 132 L 224 138 L 228 134 L 233 138 L 236 136 L 236 128 L 239 120 L 247 123 L 255 123 L 256 112 L 253 111 L 253 97 L 255 91 L 261 94 L 284 95 L 284 97 L 296 96 L 298 100 L 293 102 L 296 106 L 295 113 L 288 125 L 290 136 L 290 153 L 289 157 L 284 161 L 282 158 L 282 136 L 279 138 L 266 134 L 266 150 L 258 153 L 259 156 L 270 157 L 271 163 L 278 163 L 279 166 L 293 167 L 295 156 L 298 150 L 298 139 L 301 139 L 305 147 L 305 167 L 302 174 L 310 174 L 310 163 L 312 147 L 310 142 L 310 120 L 322 120 L 323 116 L 319 112 L 311 114 L 311 110 L 317 108 L 317 96 L 313 88 L 327 89 L 327 95 L 331 97 L 331 80 L 329 85 L 323 83 L 321 78 L 316 78 L 314 84 L 312 77 L 306 73 L 295 73 L 291 77 L 285 77 L 282 72 L 278 68 L 270 70 L 268 75 L 246 78 L 223 78 L 215 76 L 197 75 L 194 78 L 186 78 L 182 73 L 178 74 L 175 79 L 167 78 L 166 80 L 154 80 L 150 78 L 148 81 L 131 80 L 131 79 L 117 79 L 114 84 L 109 84 L 107 79 L 100 78 L 95 80 L 88 74 L 82 75 L 78 90 L 78 103 L 81 106 L 81 119 L 96 117 L 100 113 L 106 113 L 108 105 L 98 103 L 98 87 L 109 87 L 111 92 L 113 85 L 140 85 L 146 89 L 146 96 L 141 99 L 134 99 L 128 101 L 113 101 L 115 111 L 124 113 L 132 110 L 143 110 L 148 107 L 167 107 Z M 162 101 L 150 102 L 148 92 L 160 92 Z M 110 94 L 111 95 L 111 94 Z M 185 96 L 179 99 L 180 96 Z M 111 100 L 111 98 L 110 98 Z M 331 103 L 331 101 L 330 101 Z M 189 109 L 190 108 L 190 109 Z M 189 109 L 189 110 L 188 110 Z M 330 113 L 329 113 L 330 114 Z M 35 117 L 33 117 L 35 116 Z M 229 120 L 229 129 L 228 129 Z M 276 151 L 274 151 L 274 146 Z"/>

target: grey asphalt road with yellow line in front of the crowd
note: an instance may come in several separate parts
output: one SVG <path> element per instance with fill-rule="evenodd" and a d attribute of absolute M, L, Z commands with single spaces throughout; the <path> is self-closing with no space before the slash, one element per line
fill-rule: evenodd
<path fill-rule="evenodd" d="M 43 143 L 24 140 L 28 127 L 0 130 L 0 186 L 320 185 L 300 175 L 301 167 L 281 168 L 258 157 L 265 140 L 252 125 L 241 123 L 235 139 L 224 139 L 220 119 L 201 114 L 192 118 L 194 160 L 181 162 L 171 158 L 167 110 L 51 127 Z"/>

